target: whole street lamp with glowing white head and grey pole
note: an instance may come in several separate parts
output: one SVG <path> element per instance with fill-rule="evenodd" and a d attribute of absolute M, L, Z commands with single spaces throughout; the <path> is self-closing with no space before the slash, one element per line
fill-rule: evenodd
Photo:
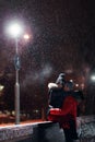
<path fill-rule="evenodd" d="M 19 83 L 19 71 L 20 71 L 20 57 L 19 57 L 19 37 L 23 33 L 23 26 L 21 23 L 12 22 L 9 24 L 8 33 L 15 39 L 15 125 L 20 123 L 20 83 Z"/>

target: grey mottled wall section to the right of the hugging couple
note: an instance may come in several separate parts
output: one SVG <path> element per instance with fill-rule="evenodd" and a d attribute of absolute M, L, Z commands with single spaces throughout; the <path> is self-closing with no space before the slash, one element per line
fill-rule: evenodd
<path fill-rule="evenodd" d="M 95 142 L 95 117 L 87 116 L 78 119 L 81 142 Z"/>

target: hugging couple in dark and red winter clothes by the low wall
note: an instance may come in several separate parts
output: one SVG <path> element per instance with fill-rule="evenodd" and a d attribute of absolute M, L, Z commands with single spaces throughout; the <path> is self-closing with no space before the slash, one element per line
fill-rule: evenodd
<path fill-rule="evenodd" d="M 73 91 L 73 82 L 64 80 L 60 73 L 56 83 L 49 83 L 48 120 L 59 122 L 64 131 L 66 142 L 75 142 L 78 106 L 83 99 L 82 92 Z"/>

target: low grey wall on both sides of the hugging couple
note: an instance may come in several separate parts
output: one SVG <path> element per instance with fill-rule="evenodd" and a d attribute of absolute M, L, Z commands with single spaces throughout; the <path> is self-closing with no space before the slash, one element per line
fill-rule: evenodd
<path fill-rule="evenodd" d="M 95 137 L 95 116 L 78 118 L 78 129 L 82 139 Z M 63 131 L 50 121 L 0 127 L 0 142 L 63 142 Z"/>

